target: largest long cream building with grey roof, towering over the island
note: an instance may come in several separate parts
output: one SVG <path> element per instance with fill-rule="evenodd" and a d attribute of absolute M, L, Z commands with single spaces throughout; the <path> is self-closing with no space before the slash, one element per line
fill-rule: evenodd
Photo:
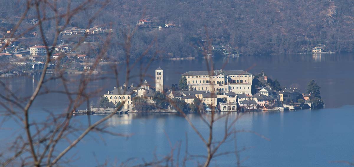
<path fill-rule="evenodd" d="M 188 71 L 182 76 L 186 77 L 189 88 L 215 92 L 218 98 L 229 91 L 251 95 L 253 77 L 246 71 Z"/>

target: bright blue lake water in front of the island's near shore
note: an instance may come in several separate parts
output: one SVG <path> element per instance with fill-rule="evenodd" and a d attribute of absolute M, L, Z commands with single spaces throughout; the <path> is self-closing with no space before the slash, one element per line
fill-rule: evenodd
<path fill-rule="evenodd" d="M 223 114 L 223 113 L 221 113 Z M 233 113 L 230 118 L 235 118 Z M 189 118 L 203 135 L 209 129 L 197 114 L 189 114 Z M 102 116 L 91 116 L 98 120 Z M 303 110 L 289 112 L 253 112 L 245 113 L 235 124 L 235 129 L 250 130 L 264 135 L 270 141 L 253 133 L 237 134 L 239 149 L 247 149 L 240 153 L 245 159 L 242 166 L 344 166 L 331 161 L 353 161 L 354 150 L 354 106 L 335 109 Z M 76 117 L 85 121 L 85 116 Z M 109 130 L 119 133 L 133 133 L 130 138 L 102 135 L 85 137 L 72 153 L 80 157 L 77 166 L 97 164 L 94 157 L 103 163 L 108 160 L 122 162 L 136 157 L 135 162 L 153 159 L 152 152 L 158 157 L 170 153 L 169 140 L 174 145 L 181 141 L 181 157 L 185 152 L 185 134 L 188 136 L 190 154 L 206 155 L 206 149 L 199 137 L 188 125 L 187 121 L 176 114 L 129 114 L 115 116 L 105 123 L 112 127 Z M 215 124 L 213 131 L 216 141 L 223 136 L 224 120 Z M 100 141 L 104 139 L 105 144 Z M 96 139 L 96 141 L 94 140 Z M 222 151 L 234 149 L 234 142 L 221 147 Z M 76 152 L 77 151 L 77 152 Z M 177 151 L 175 151 L 177 154 Z M 95 155 L 95 156 L 94 156 Z M 91 157 L 91 158 L 86 158 Z M 176 158 L 176 157 L 175 157 Z M 202 160 L 200 160 L 202 162 Z M 235 155 L 216 158 L 213 166 L 235 166 Z M 195 166 L 189 161 L 188 166 Z"/>

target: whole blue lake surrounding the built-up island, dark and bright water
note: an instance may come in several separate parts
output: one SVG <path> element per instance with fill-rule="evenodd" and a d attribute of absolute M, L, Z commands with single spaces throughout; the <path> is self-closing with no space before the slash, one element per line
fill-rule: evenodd
<path fill-rule="evenodd" d="M 154 70 L 158 67 L 164 70 L 165 87 L 178 83 L 181 74 L 191 70 L 206 70 L 204 59 L 181 61 L 154 61 L 147 70 L 140 70 L 147 62 L 139 62 L 132 70 L 131 83 L 138 84 L 140 80 L 147 79 L 153 83 Z M 262 70 L 274 79 L 278 79 L 282 86 L 297 87 L 301 92 L 306 91 L 309 80 L 314 79 L 319 84 L 321 96 L 325 100 L 326 108 L 320 110 L 302 110 L 289 112 L 252 112 L 244 113 L 236 123 L 236 129 L 255 131 L 269 138 L 267 141 L 252 133 L 239 133 L 237 135 L 238 147 L 246 147 L 241 159 L 245 159 L 243 166 L 339 166 L 342 164 L 329 163 L 330 161 L 353 161 L 354 134 L 354 102 L 350 89 L 354 82 L 354 55 L 353 54 L 316 54 L 316 55 L 274 55 L 274 56 L 240 56 L 236 58 L 213 59 L 215 69 L 246 70 L 259 73 Z M 89 84 L 90 90 L 99 89 L 102 94 L 116 86 L 110 68 L 118 68 L 120 84 L 125 79 L 125 66 L 120 64 L 104 65 L 100 68 L 106 71 L 98 77 L 106 77 Z M 141 68 L 142 67 L 142 68 Z M 141 71 L 146 76 L 139 78 Z M 152 75 L 152 76 L 151 76 Z M 80 76 L 68 76 L 77 81 Z M 33 92 L 39 76 L 21 76 L 0 78 L 8 88 L 18 96 L 28 96 Z M 123 82 L 122 82 L 123 81 Z M 77 89 L 77 83 L 69 85 L 69 89 Z M 45 89 L 63 90 L 61 79 L 55 79 L 45 84 Z M 3 92 L 3 91 L 2 91 Z M 96 98 L 101 94 L 97 94 Z M 92 103 L 96 103 L 93 98 Z M 35 102 L 31 112 L 32 119 L 42 119 L 44 110 L 61 113 L 65 110 L 68 100 L 65 95 L 41 95 Z M 81 107 L 82 109 L 85 106 Z M 223 114 L 223 113 L 221 113 Z M 232 118 L 237 116 L 232 114 Z M 92 121 L 103 116 L 95 115 Z M 203 135 L 207 134 L 207 127 L 199 115 L 188 114 L 195 126 Z M 75 116 L 75 121 L 87 124 L 87 116 Z M 133 133 L 126 139 L 108 134 L 92 135 L 71 150 L 68 156 L 78 158 L 73 166 L 96 166 L 98 161 L 105 160 L 109 164 L 126 161 L 130 157 L 137 157 L 135 163 L 142 162 L 141 158 L 151 160 L 153 152 L 159 156 L 170 152 L 169 140 L 172 144 L 181 141 L 181 157 L 185 148 L 185 133 L 188 136 L 188 150 L 190 154 L 205 154 L 205 147 L 198 136 L 183 117 L 177 114 L 127 114 L 116 115 L 109 119 L 105 125 L 109 130 L 119 133 Z M 224 121 L 216 123 L 214 133 L 216 136 L 223 134 Z M 2 124 L 1 145 L 6 146 L 8 138 L 13 136 L 13 131 L 19 125 L 13 120 Z M 105 143 L 98 142 L 104 139 Z M 63 147 L 65 143 L 63 143 Z M 225 143 L 221 151 L 234 147 L 233 142 Z M 218 157 L 213 166 L 235 166 L 235 155 Z M 188 162 L 188 166 L 195 166 L 196 162 Z"/>

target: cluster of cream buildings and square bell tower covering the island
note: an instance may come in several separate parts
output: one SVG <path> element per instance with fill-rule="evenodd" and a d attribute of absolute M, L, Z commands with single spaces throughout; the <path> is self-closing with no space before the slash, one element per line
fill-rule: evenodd
<path fill-rule="evenodd" d="M 293 103 L 302 98 L 309 102 L 310 94 L 301 94 L 297 88 L 289 88 L 281 91 L 272 90 L 270 87 L 257 88 L 252 95 L 253 74 L 247 71 L 214 70 L 214 71 L 187 71 L 181 75 L 187 80 L 188 90 L 167 90 L 164 92 L 164 71 L 162 68 L 155 70 L 155 87 L 144 81 L 141 85 L 124 83 L 120 87 L 114 87 L 107 91 L 103 97 L 107 97 L 113 104 L 124 103 L 124 109 L 133 108 L 133 98 L 138 96 L 148 103 L 154 103 L 156 92 L 163 93 L 166 98 L 180 99 L 187 104 L 192 104 L 198 98 L 205 106 L 216 107 L 222 112 L 279 110 L 294 109 Z M 264 76 L 267 79 L 267 76 Z"/>

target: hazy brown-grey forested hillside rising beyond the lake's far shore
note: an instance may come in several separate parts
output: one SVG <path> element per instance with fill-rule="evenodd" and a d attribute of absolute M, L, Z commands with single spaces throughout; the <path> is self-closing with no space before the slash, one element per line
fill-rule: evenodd
<path fill-rule="evenodd" d="M 72 0 L 70 6 L 73 8 L 80 1 Z M 25 10 L 24 3 L 24 0 L 1 0 L 0 18 L 8 25 L 15 24 Z M 66 12 L 68 1 L 58 0 L 57 3 L 58 11 Z M 162 29 L 139 28 L 131 43 L 133 55 L 143 53 L 152 45 L 147 56 L 196 56 L 206 37 L 212 44 L 228 45 L 244 55 L 303 53 L 319 45 L 326 51 L 354 50 L 352 0 L 110 0 L 88 25 L 87 18 L 99 11 L 102 3 L 97 2 L 75 16 L 70 26 L 112 28 L 114 37 L 108 55 L 117 59 L 124 56 L 118 45 L 122 42 L 122 32 L 133 29 L 137 21 L 144 18 Z M 35 18 L 35 13 L 29 11 L 27 19 Z M 178 27 L 167 29 L 165 23 Z M 45 24 L 46 33 L 54 31 L 51 21 Z M 1 32 L 8 29 L 2 27 Z"/>

